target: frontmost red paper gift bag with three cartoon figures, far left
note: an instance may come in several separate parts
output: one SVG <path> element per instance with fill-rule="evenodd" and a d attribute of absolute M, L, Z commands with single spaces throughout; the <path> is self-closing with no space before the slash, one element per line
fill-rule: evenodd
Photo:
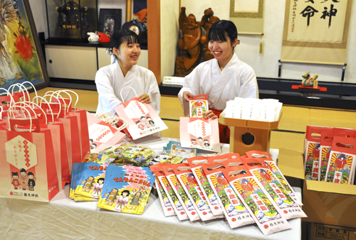
<path fill-rule="evenodd" d="M 59 192 L 51 131 L 38 119 L 9 122 L 0 126 L 0 196 L 48 202 Z"/>

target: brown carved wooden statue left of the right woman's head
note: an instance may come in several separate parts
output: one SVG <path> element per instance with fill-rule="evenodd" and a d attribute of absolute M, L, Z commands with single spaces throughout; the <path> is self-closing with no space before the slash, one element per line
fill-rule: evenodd
<path fill-rule="evenodd" d="M 181 55 L 176 61 L 176 75 L 188 75 L 199 64 L 201 28 L 193 14 L 185 13 L 185 7 L 181 8 L 179 15 L 179 28 L 182 38 L 178 40 Z"/>

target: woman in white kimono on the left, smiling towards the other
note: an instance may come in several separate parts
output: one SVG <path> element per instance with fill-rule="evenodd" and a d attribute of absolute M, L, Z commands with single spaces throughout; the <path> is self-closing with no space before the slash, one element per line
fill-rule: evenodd
<path fill-rule="evenodd" d="M 159 114 L 161 94 L 152 71 L 137 65 L 141 54 L 140 40 L 130 30 L 114 33 L 110 41 L 112 46 L 112 64 L 101 67 L 95 75 L 95 84 L 99 94 L 97 112 L 110 111 L 116 114 L 115 107 L 132 99 L 135 89 L 140 102 L 149 103 Z M 130 87 L 125 87 L 130 86 Z M 120 90 L 122 87 L 122 97 Z M 123 99 L 122 99 L 123 98 Z"/>

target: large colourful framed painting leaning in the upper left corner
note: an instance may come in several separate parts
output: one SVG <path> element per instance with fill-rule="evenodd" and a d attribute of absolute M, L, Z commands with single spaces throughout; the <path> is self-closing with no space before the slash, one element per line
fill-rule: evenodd
<path fill-rule="evenodd" d="M 47 87 L 47 68 L 28 0 L 0 0 L 0 4 L 0 87 L 26 81 L 36 89 Z"/>

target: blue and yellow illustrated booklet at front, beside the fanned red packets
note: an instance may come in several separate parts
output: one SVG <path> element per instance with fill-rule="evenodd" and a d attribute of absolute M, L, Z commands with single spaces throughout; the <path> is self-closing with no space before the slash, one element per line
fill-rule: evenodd
<path fill-rule="evenodd" d="M 150 168 L 108 165 L 98 207 L 114 212 L 142 214 L 155 176 Z"/>

